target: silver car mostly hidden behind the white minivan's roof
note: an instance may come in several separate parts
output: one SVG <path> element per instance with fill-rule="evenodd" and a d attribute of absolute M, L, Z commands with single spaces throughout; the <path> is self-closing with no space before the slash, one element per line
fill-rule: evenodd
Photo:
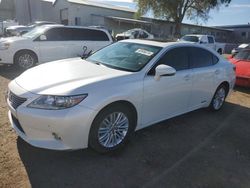
<path fill-rule="evenodd" d="M 42 25 L 49 25 L 49 24 L 56 24 L 55 22 L 48 22 L 48 21 L 36 21 L 33 22 L 27 26 L 25 25 L 16 25 L 16 26 L 10 26 L 5 29 L 5 36 L 6 37 L 11 37 L 11 36 L 20 36 L 23 35 L 32 29 L 34 29 L 37 26 L 42 26 Z"/>

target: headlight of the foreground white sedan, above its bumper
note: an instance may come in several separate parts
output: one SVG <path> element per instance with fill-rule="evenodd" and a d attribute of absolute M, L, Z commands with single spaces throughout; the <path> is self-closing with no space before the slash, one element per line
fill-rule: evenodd
<path fill-rule="evenodd" d="M 61 110 L 79 104 L 87 96 L 87 94 L 74 96 L 43 95 L 32 101 L 27 107 L 46 110 Z"/>

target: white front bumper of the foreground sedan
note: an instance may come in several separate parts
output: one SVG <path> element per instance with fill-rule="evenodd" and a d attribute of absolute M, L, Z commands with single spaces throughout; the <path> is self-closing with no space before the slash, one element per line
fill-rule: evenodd
<path fill-rule="evenodd" d="M 15 93 L 14 90 L 11 91 Z M 24 95 L 30 97 L 32 94 Z M 29 103 L 28 99 L 14 109 L 7 99 L 11 126 L 23 140 L 32 146 L 52 150 L 88 147 L 89 131 L 96 111 L 81 105 L 64 110 L 41 110 L 28 108 L 26 105 Z"/>

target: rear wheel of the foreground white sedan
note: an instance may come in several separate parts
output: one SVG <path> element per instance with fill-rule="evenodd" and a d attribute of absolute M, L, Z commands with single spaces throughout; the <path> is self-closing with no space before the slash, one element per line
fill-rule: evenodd
<path fill-rule="evenodd" d="M 210 103 L 210 109 L 212 111 L 219 111 L 225 103 L 227 97 L 227 87 L 225 85 L 220 85 L 213 96 L 213 99 Z"/>

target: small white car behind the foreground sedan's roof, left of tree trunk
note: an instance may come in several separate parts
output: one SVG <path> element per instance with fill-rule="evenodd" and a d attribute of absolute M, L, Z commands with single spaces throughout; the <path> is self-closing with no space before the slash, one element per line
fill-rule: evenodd
<path fill-rule="evenodd" d="M 117 34 L 115 38 L 117 41 L 124 39 L 154 39 L 154 35 L 143 29 L 136 28 Z"/>

